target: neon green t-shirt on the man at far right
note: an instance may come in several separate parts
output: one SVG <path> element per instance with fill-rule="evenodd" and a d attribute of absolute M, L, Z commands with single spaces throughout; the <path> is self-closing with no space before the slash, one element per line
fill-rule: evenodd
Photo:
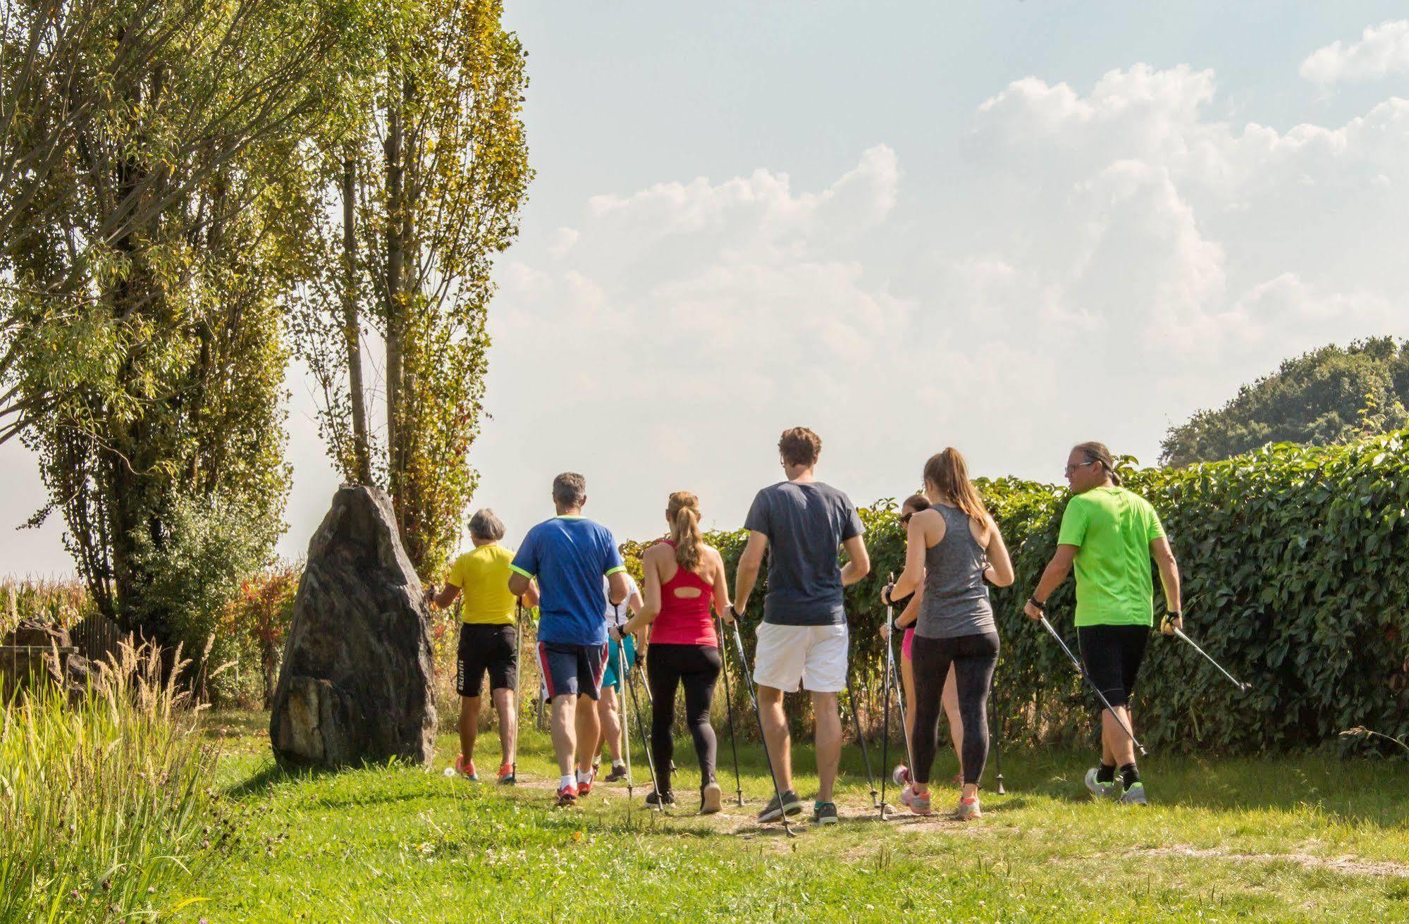
<path fill-rule="evenodd" d="M 1076 625 L 1154 625 L 1150 542 L 1164 535 L 1150 501 L 1124 487 L 1076 494 L 1058 545 L 1075 545 Z"/>

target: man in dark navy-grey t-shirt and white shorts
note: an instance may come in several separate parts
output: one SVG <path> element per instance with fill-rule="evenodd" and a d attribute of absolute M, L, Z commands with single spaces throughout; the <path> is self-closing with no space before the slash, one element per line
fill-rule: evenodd
<path fill-rule="evenodd" d="M 817 800 L 813 818 L 837 821 L 831 789 L 841 759 L 841 716 L 837 693 L 847 686 L 847 611 L 841 589 L 871 570 L 861 538 L 861 517 L 844 493 L 816 479 L 821 439 L 806 427 L 783 432 L 778 452 L 786 482 L 758 492 L 744 528 L 748 545 L 738 561 L 734 606 L 741 613 L 758 580 L 764 552 L 768 559 L 768 596 L 758 625 L 754 683 L 764 738 L 778 775 L 782 797 L 759 813 L 759 821 L 776 821 L 802 811 L 792 789 L 792 755 L 783 693 L 812 693 L 817 741 Z M 845 568 L 837 561 L 845 549 Z"/>

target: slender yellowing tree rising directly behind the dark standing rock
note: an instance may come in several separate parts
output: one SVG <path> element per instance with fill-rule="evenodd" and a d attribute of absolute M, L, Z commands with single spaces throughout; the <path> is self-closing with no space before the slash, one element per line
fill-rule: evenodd
<path fill-rule="evenodd" d="M 383 483 L 417 570 L 459 538 L 475 490 L 490 269 L 519 232 L 533 176 L 520 120 L 526 54 L 497 0 L 407 0 L 376 66 L 344 86 L 324 137 L 341 221 L 307 290 L 297 348 L 323 389 L 321 425 L 349 482 Z M 330 206 L 333 203 L 330 201 Z M 385 349 L 383 438 L 366 424 L 361 342 Z"/>

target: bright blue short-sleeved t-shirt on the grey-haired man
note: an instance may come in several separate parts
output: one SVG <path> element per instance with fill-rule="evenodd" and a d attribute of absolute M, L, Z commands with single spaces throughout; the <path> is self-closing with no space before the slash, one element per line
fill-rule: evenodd
<path fill-rule="evenodd" d="M 509 570 L 538 579 L 538 641 L 607 642 L 607 594 L 602 578 L 626 568 L 604 525 L 585 517 L 545 520 L 528 530 Z"/>

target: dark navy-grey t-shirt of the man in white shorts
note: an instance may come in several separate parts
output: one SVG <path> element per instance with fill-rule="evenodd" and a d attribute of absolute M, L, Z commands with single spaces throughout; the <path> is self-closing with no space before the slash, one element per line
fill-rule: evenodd
<path fill-rule="evenodd" d="M 768 537 L 765 623 L 847 621 L 837 549 L 864 531 L 850 497 L 821 482 L 781 482 L 758 492 L 744 528 Z"/>

